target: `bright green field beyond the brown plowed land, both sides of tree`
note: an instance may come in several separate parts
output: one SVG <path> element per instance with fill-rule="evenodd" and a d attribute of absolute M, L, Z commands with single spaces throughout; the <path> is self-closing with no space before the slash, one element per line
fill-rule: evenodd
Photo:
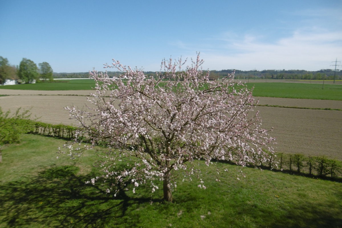
<path fill-rule="evenodd" d="M 0 89 L 13 90 L 91 90 L 95 83 L 92 79 L 69 80 L 59 83 L 36 83 L 21 85 L 5 85 Z M 305 98 L 323 100 L 342 100 L 342 85 L 326 84 L 322 89 L 321 84 L 309 83 L 285 83 L 285 82 L 249 82 L 248 87 L 254 86 L 253 96 L 259 97 L 284 97 Z"/>

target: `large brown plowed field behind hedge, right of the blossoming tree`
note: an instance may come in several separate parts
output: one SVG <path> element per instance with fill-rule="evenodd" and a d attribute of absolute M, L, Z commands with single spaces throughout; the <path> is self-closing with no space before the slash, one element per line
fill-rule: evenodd
<path fill-rule="evenodd" d="M 279 152 L 327 155 L 342 160 L 341 111 L 295 108 L 256 107 L 262 127 L 274 128 L 269 134 L 277 138 Z"/>

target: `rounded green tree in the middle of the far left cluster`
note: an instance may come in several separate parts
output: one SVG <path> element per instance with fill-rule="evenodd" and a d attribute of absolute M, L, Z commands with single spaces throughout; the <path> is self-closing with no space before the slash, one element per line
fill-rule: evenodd
<path fill-rule="evenodd" d="M 38 80 L 39 73 L 37 65 L 30 59 L 23 58 L 19 64 L 18 76 L 26 83 Z"/>

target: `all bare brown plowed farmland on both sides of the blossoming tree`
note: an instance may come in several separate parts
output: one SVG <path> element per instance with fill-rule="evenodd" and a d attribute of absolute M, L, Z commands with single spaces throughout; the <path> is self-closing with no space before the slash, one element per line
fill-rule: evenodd
<path fill-rule="evenodd" d="M 32 108 L 31 113 L 41 117 L 39 121 L 77 125 L 70 120 L 66 106 L 82 108 L 88 104 L 85 96 L 66 96 L 51 94 L 89 95 L 94 91 L 28 91 L 3 90 L 0 94 L 23 94 L 20 96 L 0 97 L 0 107 L 4 111 L 17 108 Z M 25 95 L 24 95 L 25 94 Z M 50 94 L 46 96 L 30 94 Z M 258 97 L 256 97 L 258 99 Z M 311 108 L 342 109 L 342 101 L 310 100 L 289 98 L 259 97 L 259 104 L 297 106 Z M 327 155 L 342 160 L 342 111 L 312 110 L 276 107 L 255 107 L 260 110 L 263 128 L 274 127 L 270 133 L 277 138 L 275 147 L 279 152 L 303 153 L 305 155 Z"/>

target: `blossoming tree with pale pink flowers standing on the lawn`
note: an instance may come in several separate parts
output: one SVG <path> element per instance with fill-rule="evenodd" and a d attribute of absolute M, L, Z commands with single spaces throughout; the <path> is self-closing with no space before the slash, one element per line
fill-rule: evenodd
<path fill-rule="evenodd" d="M 96 93 L 88 98 L 90 110 L 67 109 L 81 124 L 77 134 L 91 142 L 83 149 L 70 145 L 70 156 L 100 142 L 106 145 L 104 174 L 93 178 L 93 184 L 110 179 L 106 191 L 116 194 L 121 183 L 131 183 L 133 192 L 141 184 L 155 191 L 162 181 L 164 200 L 172 201 L 173 174 L 195 174 L 194 160 L 207 165 L 214 159 L 229 160 L 241 166 L 268 161 L 264 151 L 273 153 L 268 145 L 274 138 L 261 129 L 258 112 L 251 112 L 255 103 L 251 90 L 234 82 L 234 74 L 209 80 L 209 72 L 201 71 L 202 63 L 197 55 L 182 71 L 181 59 L 163 60 L 158 79 L 115 60 L 105 67 L 122 71 L 124 79 L 90 73 L 96 82 Z M 77 138 L 74 143 L 79 143 Z M 119 165 L 123 162 L 124 167 Z"/>

